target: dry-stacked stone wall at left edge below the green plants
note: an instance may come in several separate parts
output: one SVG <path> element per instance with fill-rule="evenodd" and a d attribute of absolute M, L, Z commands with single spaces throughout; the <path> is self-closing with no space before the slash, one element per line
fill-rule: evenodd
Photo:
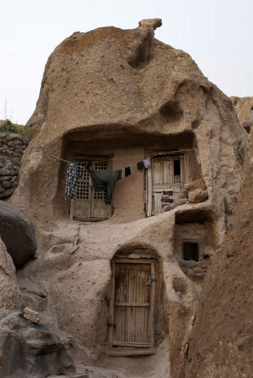
<path fill-rule="evenodd" d="M 18 186 L 20 161 L 28 143 L 20 134 L 0 133 L 0 199 Z"/>

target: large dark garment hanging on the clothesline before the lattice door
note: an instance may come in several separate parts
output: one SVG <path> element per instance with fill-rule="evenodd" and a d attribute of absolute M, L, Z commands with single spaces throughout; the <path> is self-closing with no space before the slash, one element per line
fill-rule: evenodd
<path fill-rule="evenodd" d="M 95 171 L 90 169 L 90 175 L 95 191 L 105 192 L 105 203 L 111 203 L 114 187 L 118 180 L 121 180 L 122 170 L 118 171 Z"/>

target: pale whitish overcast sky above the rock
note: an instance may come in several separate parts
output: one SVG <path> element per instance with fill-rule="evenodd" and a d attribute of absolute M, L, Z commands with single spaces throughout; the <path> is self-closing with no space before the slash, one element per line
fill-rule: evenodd
<path fill-rule="evenodd" d="M 51 52 L 74 31 L 131 29 L 161 18 L 155 37 L 189 53 L 228 96 L 253 95 L 252 0 L 0 0 L 0 119 L 25 124 Z"/>

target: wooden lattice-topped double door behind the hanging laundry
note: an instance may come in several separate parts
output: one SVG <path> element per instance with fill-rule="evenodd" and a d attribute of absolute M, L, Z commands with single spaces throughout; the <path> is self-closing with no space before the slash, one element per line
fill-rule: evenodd
<path fill-rule="evenodd" d="M 89 171 L 88 161 L 78 162 L 78 188 L 75 200 L 71 201 L 70 217 L 81 220 L 100 220 L 108 218 L 105 192 L 95 192 Z M 108 169 L 107 162 L 93 162 L 91 169 Z"/>

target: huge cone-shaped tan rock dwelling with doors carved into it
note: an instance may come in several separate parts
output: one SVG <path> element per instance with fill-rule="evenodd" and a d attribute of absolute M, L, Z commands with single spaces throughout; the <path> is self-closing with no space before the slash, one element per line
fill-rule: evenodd
<path fill-rule="evenodd" d="M 38 258 L 17 270 L 22 299 L 42 324 L 73 338 L 75 362 L 157 353 L 158 369 L 158 351 L 170 348 L 177 378 L 184 376 L 203 277 L 233 224 L 243 130 L 231 100 L 191 57 L 154 39 L 160 25 L 154 19 L 133 30 L 77 32 L 55 49 L 8 201 L 28 214 L 38 238 Z M 51 155 L 91 160 L 97 169 L 101 161 L 110 170 L 131 166 L 104 217 L 104 205 L 97 207 L 103 221 L 93 216 L 101 198 L 89 197 L 87 181 L 79 183 L 82 207 L 64 202 L 67 165 Z M 144 157 L 151 166 L 140 171 Z M 154 173 L 160 167 L 171 177 L 162 193 Z M 81 175 L 86 167 L 79 169 Z M 142 282 L 132 302 L 122 301 L 123 281 Z M 139 303 L 136 293 L 143 294 Z M 117 306 L 135 314 L 135 325 L 144 319 L 130 341 L 115 338 L 120 327 L 133 333 L 133 318 L 122 320 Z"/>

